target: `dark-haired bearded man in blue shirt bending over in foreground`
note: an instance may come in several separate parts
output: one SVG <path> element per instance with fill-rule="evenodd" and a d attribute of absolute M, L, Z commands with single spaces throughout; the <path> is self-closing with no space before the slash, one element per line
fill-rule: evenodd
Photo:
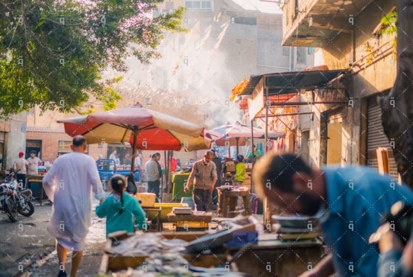
<path fill-rule="evenodd" d="M 286 214 L 322 214 L 330 254 L 301 276 L 377 276 L 379 253 L 368 239 L 396 201 L 413 203 L 409 188 L 371 168 L 310 168 L 289 154 L 260 159 L 253 181 Z"/>

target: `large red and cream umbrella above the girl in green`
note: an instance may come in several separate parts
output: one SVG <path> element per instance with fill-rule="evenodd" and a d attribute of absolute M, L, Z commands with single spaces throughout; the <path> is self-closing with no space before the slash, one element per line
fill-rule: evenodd
<path fill-rule="evenodd" d="M 142 107 L 141 104 L 59 120 L 65 132 L 83 135 L 88 144 L 129 142 L 136 149 L 195 151 L 211 148 L 198 124 Z M 134 159 L 132 167 L 134 168 Z"/>

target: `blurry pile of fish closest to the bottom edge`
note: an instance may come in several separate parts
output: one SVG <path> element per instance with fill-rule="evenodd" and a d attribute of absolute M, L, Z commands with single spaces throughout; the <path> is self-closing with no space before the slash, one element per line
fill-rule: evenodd
<path fill-rule="evenodd" d="M 121 272 L 112 273 L 114 277 L 243 277 L 240 272 L 230 272 L 225 268 L 202 268 L 189 265 L 179 254 L 154 255 L 147 258 L 146 263 L 136 269 L 128 268 Z"/>

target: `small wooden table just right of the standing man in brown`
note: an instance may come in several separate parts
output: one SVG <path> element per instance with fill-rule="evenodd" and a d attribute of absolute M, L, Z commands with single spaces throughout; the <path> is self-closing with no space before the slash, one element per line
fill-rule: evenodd
<path fill-rule="evenodd" d="M 249 200 L 250 189 L 247 187 L 217 188 L 218 190 L 218 217 L 229 217 L 229 212 L 235 212 L 238 197 L 242 197 L 246 215 L 251 215 Z"/>

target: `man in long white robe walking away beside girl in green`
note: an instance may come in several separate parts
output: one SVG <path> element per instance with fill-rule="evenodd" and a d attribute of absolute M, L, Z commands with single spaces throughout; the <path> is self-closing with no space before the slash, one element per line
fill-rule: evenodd
<path fill-rule="evenodd" d="M 70 276 L 76 277 L 91 223 L 92 194 L 101 201 L 105 197 L 94 159 L 85 154 L 85 137 L 74 137 L 70 148 L 72 153 L 56 159 L 43 178 L 44 191 L 53 202 L 47 231 L 56 238 L 60 263 L 58 277 L 67 276 L 68 251 L 72 251 Z"/>

